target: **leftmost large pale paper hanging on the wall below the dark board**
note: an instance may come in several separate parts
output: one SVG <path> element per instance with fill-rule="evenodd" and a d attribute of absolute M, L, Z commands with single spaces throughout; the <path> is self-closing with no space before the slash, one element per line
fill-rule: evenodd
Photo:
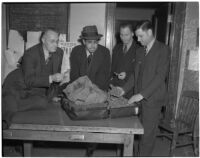
<path fill-rule="evenodd" d="M 8 48 L 18 52 L 20 56 L 24 54 L 24 40 L 18 31 L 16 30 L 9 31 Z"/>

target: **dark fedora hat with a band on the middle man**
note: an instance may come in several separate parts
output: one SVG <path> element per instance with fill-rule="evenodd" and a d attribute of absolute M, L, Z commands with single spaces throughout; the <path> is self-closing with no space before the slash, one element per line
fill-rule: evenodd
<path fill-rule="evenodd" d="M 96 25 L 85 26 L 81 32 L 80 38 L 86 40 L 99 40 L 103 35 L 98 34 Z"/>

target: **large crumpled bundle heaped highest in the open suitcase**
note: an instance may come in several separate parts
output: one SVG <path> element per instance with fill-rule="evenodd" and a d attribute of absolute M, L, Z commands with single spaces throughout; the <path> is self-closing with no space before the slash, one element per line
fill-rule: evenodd
<path fill-rule="evenodd" d="M 63 92 L 70 101 L 77 105 L 97 104 L 107 100 L 107 93 L 93 84 L 87 76 L 78 78 Z"/>

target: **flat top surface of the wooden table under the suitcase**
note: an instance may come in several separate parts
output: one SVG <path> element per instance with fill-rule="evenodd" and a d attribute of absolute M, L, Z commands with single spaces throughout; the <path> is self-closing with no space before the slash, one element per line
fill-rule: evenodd
<path fill-rule="evenodd" d="M 50 106 L 47 110 L 18 112 L 13 118 L 10 129 L 123 134 L 144 133 L 137 116 L 74 121 L 67 116 L 60 105 Z"/>

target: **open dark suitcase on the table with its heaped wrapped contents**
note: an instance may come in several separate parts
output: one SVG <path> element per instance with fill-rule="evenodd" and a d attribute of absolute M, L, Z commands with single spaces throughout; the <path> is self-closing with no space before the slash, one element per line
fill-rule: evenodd
<path fill-rule="evenodd" d="M 87 76 L 69 84 L 63 92 L 62 108 L 72 120 L 94 120 L 136 115 L 135 104 L 112 96 L 94 85 Z"/>

